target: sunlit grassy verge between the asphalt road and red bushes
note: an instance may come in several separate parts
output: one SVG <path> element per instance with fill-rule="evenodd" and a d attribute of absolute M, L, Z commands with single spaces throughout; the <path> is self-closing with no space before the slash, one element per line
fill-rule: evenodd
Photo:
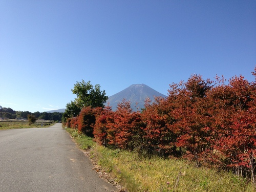
<path fill-rule="evenodd" d="M 91 147 L 91 158 L 111 174 L 123 191 L 256 191 L 253 183 L 231 173 L 196 168 L 181 159 L 145 158 L 137 153 L 110 150 L 77 131 L 67 129 L 82 150 Z"/>

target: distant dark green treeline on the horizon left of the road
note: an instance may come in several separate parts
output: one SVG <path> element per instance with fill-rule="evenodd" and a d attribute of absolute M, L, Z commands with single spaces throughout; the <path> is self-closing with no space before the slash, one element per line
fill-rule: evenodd
<path fill-rule="evenodd" d="M 33 115 L 36 119 L 45 119 L 45 120 L 51 120 L 51 121 L 61 121 L 63 113 L 59 112 L 53 112 L 53 113 L 47 113 L 47 112 L 35 112 L 31 113 L 29 111 L 14 111 L 11 108 L 2 108 L 0 106 L 0 117 L 5 117 L 9 119 L 15 119 L 15 118 L 28 118 L 28 115 Z"/>

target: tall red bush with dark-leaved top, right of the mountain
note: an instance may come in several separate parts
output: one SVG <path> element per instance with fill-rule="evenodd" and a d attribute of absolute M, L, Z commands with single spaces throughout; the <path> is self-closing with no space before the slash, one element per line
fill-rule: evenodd
<path fill-rule="evenodd" d="M 211 150 L 211 114 L 206 94 L 212 88 L 212 81 L 203 80 L 199 75 L 191 76 L 187 82 L 170 85 L 167 103 L 168 116 L 173 122 L 167 127 L 176 135 L 175 146 L 183 157 L 193 159 L 197 166 L 206 161 Z"/>

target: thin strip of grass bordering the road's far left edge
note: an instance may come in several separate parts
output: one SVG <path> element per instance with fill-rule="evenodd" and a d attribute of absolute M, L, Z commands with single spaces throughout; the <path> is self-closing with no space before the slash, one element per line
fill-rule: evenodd
<path fill-rule="evenodd" d="M 28 122 L 0 122 L 0 130 L 8 130 L 8 129 L 27 129 L 27 128 L 35 128 L 35 127 L 49 127 L 52 126 L 53 124 L 50 125 L 44 125 L 41 126 L 41 124 L 31 124 L 29 125 Z"/>

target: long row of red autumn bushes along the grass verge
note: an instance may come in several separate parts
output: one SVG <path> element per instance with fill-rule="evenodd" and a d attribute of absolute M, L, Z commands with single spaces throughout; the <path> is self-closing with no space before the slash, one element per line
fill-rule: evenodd
<path fill-rule="evenodd" d="M 183 157 L 254 180 L 255 84 L 241 75 L 228 83 L 223 76 L 212 81 L 191 75 L 170 84 L 166 98 L 146 99 L 142 112 L 133 112 L 129 101 L 115 112 L 104 109 L 93 134 L 104 146 Z"/>

